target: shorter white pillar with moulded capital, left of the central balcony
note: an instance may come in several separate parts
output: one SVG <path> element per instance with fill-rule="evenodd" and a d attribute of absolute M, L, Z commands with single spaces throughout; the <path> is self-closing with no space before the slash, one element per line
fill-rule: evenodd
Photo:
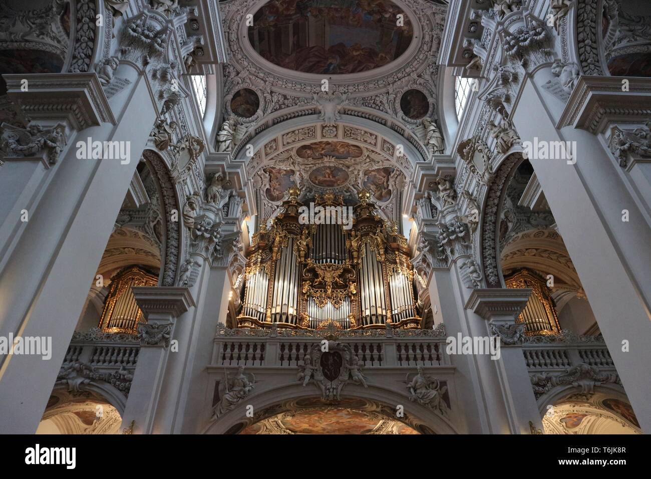
<path fill-rule="evenodd" d="M 195 306 L 195 302 L 187 287 L 134 287 L 133 295 L 147 323 L 138 328 L 141 347 L 122 428 L 128 428 L 134 421 L 133 433 L 161 433 L 164 431 L 157 430 L 156 417 L 167 394 L 163 383 L 169 373 L 169 363 L 179 354 L 176 351 L 186 346 L 171 344 L 178 341 L 177 319 Z"/>

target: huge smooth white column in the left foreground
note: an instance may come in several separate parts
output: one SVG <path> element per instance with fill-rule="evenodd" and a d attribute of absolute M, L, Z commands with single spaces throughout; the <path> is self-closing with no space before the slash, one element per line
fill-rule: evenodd
<path fill-rule="evenodd" d="M 156 118 L 141 73 L 132 65 L 120 65 L 116 74 L 132 82 L 109 101 L 117 124 L 72 134 L 59 162 L 46 172 L 49 178 L 35 181 L 38 188 L 26 195 L 38 201 L 25 205 L 29 221 L 12 230 L 20 230 L 20 241 L 5 236 L 12 243 L 0 272 L 0 336 L 51 338 L 52 349 L 49 360 L 36 355 L 0 358 L 0 403 L 7 413 L 0 414 L 0 430 L 5 433 L 36 431 Z M 59 92 L 49 93 L 56 99 Z M 95 93 L 103 95 L 101 89 Z M 130 162 L 77 158 L 77 141 L 87 138 L 128 142 Z M 10 216 L 23 209 L 24 199 L 13 197 L 9 218 L 0 218 L 3 228 L 20 222 L 20 217 Z"/>

